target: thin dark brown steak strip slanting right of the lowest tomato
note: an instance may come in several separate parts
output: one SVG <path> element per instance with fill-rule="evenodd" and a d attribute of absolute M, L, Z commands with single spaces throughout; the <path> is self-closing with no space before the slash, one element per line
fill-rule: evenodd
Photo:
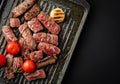
<path fill-rule="evenodd" d="M 56 60 L 57 60 L 56 56 L 47 56 L 47 57 L 43 58 L 42 60 L 40 60 L 39 62 L 37 62 L 36 66 L 37 66 L 37 68 L 45 67 L 49 64 L 55 63 Z"/>

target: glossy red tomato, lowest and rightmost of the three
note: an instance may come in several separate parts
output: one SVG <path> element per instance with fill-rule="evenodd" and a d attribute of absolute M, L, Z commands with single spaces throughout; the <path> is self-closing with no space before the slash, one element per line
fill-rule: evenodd
<path fill-rule="evenodd" d="M 31 73 L 35 71 L 35 63 L 32 60 L 25 60 L 22 69 L 24 72 Z"/>

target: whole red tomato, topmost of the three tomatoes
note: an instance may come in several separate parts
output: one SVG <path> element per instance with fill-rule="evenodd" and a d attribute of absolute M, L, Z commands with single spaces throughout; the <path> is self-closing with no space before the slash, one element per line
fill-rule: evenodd
<path fill-rule="evenodd" d="M 6 51 L 9 54 L 16 55 L 20 52 L 20 45 L 17 42 L 9 42 L 6 46 Z"/>

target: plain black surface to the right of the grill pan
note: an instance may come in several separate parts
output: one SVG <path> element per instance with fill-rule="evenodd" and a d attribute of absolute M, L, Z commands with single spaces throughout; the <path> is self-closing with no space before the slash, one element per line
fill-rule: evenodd
<path fill-rule="evenodd" d="M 89 0 L 91 10 L 63 84 L 120 84 L 120 0 Z"/>

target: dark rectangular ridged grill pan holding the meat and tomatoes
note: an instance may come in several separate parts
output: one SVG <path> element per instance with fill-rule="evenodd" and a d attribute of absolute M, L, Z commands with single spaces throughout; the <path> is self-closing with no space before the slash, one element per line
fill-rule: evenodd
<path fill-rule="evenodd" d="M 0 0 L 0 53 L 6 55 L 6 40 L 3 37 L 1 28 L 9 25 L 9 18 L 12 17 L 11 10 L 23 0 Z M 47 77 L 45 79 L 28 82 L 22 74 L 17 74 L 16 78 L 7 80 L 4 68 L 0 69 L 0 84 L 60 84 L 72 53 L 77 43 L 78 37 L 83 28 L 85 19 L 89 11 L 89 4 L 85 0 L 37 0 L 41 9 L 47 14 L 53 8 L 60 7 L 64 10 L 66 17 L 60 23 L 61 32 L 59 34 L 59 47 L 61 49 L 58 60 L 55 64 L 45 68 Z M 23 17 L 20 18 L 24 21 Z M 15 33 L 18 36 L 18 33 Z"/>

